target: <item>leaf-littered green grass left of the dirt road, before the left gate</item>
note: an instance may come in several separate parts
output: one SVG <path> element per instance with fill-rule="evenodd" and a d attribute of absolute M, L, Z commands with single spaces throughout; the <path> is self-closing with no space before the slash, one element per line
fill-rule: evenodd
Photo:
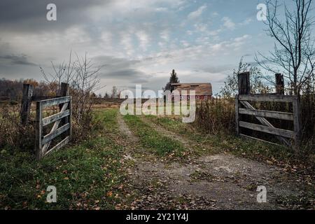
<path fill-rule="evenodd" d="M 116 129 L 116 113 L 97 114 L 105 133 Z M 113 135 L 98 133 L 39 162 L 31 153 L 2 150 L 0 209 L 114 209 L 120 201 L 118 186 L 125 179 L 120 166 L 123 148 L 115 142 Z M 57 203 L 46 202 L 48 186 L 57 188 Z"/>

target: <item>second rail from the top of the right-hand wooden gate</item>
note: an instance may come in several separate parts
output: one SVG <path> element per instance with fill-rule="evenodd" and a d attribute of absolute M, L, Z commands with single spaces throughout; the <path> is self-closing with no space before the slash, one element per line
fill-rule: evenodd
<path fill-rule="evenodd" d="M 239 113 L 251 115 L 251 116 L 265 117 L 265 118 L 276 118 L 280 120 L 293 120 L 293 113 L 286 113 L 286 112 L 279 112 L 279 111 L 262 111 L 262 110 L 255 110 L 255 109 L 240 108 Z"/>

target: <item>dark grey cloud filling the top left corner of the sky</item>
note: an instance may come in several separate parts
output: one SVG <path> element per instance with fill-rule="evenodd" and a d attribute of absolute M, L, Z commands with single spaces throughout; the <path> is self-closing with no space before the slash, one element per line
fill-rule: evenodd
<path fill-rule="evenodd" d="M 65 29 L 71 25 L 86 21 L 87 9 L 92 6 L 111 3 L 113 0 L 1 0 L 0 29 L 16 31 L 43 31 Z M 55 3 L 57 6 L 57 21 L 46 20 L 46 6 Z"/>

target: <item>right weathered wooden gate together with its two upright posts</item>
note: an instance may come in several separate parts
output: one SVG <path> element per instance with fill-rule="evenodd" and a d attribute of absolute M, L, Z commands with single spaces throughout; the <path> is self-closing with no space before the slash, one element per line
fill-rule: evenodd
<path fill-rule="evenodd" d="M 241 133 L 241 129 L 245 128 L 257 132 L 264 132 L 267 134 L 273 134 L 281 142 L 288 146 L 293 146 L 295 150 L 298 150 L 300 146 L 300 134 L 301 134 L 301 115 L 300 115 L 300 99 L 293 95 L 284 95 L 284 83 L 281 74 L 276 74 L 276 94 L 250 94 L 250 74 L 239 74 L 239 94 L 235 100 L 236 111 L 236 132 L 243 137 L 249 137 L 251 139 L 262 140 Z M 250 102 L 284 102 L 292 104 L 293 113 L 281 112 L 281 111 L 264 111 L 255 109 Z M 260 125 L 255 123 L 249 123 L 246 120 L 241 120 L 241 115 L 254 116 L 259 121 Z M 292 121 L 294 130 L 285 130 L 277 128 L 272 125 L 266 118 L 274 118 L 279 120 Z M 294 141 L 294 144 L 292 144 Z"/>

